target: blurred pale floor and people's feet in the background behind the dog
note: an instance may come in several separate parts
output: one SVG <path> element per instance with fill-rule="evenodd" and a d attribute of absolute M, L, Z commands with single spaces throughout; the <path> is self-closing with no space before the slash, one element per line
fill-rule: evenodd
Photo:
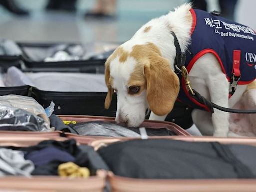
<path fill-rule="evenodd" d="M 207 10 L 220 10 L 219 1 L 225 0 L 206 0 Z M 229 16 L 231 12 L 235 21 L 256 29 L 256 0 L 227 1 Z M 185 2 L 188 0 L 0 0 L 0 37 L 22 42 L 123 42 L 151 18 Z"/>

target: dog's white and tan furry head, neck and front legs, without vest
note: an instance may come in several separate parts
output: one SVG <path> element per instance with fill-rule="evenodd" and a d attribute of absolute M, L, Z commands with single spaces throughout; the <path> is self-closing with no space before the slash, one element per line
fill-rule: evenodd
<path fill-rule="evenodd" d="M 105 108 L 109 108 L 112 93 L 116 90 L 117 123 L 137 127 L 143 122 L 148 107 L 152 111 L 151 120 L 164 120 L 172 110 L 179 92 L 179 80 L 173 72 L 176 48 L 170 31 L 176 34 L 181 50 L 185 51 L 192 27 L 190 8 L 191 4 L 184 4 L 167 15 L 152 19 L 108 58 L 105 64 L 108 86 Z M 246 85 L 239 85 L 228 99 L 229 82 L 211 53 L 196 61 L 189 79 L 201 95 L 223 107 L 232 107 L 246 90 Z M 141 90 L 138 94 L 129 94 L 130 86 L 140 86 Z M 203 135 L 228 135 L 228 113 L 215 109 L 211 114 L 195 109 L 192 117 Z"/>

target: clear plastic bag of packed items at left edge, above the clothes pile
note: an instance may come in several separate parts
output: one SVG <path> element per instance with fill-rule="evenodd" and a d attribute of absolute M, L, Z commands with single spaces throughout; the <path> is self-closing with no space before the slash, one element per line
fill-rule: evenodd
<path fill-rule="evenodd" d="M 51 131 L 44 108 L 19 95 L 0 96 L 0 130 Z"/>

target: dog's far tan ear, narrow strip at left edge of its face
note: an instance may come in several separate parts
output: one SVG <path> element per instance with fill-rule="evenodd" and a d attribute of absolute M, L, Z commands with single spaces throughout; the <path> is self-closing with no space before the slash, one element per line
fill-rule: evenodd
<path fill-rule="evenodd" d="M 106 61 L 105 63 L 105 82 L 108 88 L 106 99 L 105 99 L 105 109 L 108 109 L 110 107 L 110 104 L 112 101 L 112 95 L 114 92 L 110 82 L 110 62 L 109 61 Z"/>

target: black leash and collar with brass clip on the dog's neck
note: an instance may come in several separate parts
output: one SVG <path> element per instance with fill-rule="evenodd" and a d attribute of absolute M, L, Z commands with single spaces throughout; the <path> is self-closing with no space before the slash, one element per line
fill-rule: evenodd
<path fill-rule="evenodd" d="M 232 108 L 225 108 L 222 106 L 219 106 L 215 103 L 212 103 L 208 101 L 206 98 L 204 98 L 202 95 L 200 95 L 198 92 L 196 92 L 194 89 L 191 88 L 190 82 L 187 79 L 188 72 L 185 68 L 185 61 L 186 61 L 186 54 L 185 52 L 181 51 L 177 36 L 174 32 L 171 32 L 171 34 L 174 37 L 174 45 L 176 47 L 176 57 L 175 57 L 175 73 L 179 74 L 182 73 L 183 78 L 185 78 L 186 86 L 188 88 L 189 94 L 199 103 L 207 106 L 207 108 L 210 109 L 211 113 L 214 112 L 214 108 L 224 111 L 224 112 L 230 112 L 230 113 L 238 113 L 238 114 L 256 114 L 256 110 L 238 110 L 238 109 L 232 109 Z M 190 51 L 190 50 L 189 50 Z M 190 51 L 191 52 L 191 51 Z M 189 54 L 191 54 L 189 52 Z"/>

